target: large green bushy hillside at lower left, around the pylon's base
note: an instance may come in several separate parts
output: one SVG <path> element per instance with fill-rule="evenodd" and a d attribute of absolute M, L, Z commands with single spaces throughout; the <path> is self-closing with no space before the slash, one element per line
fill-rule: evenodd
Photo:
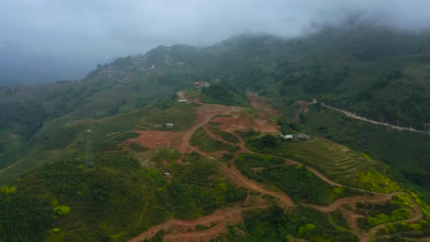
<path fill-rule="evenodd" d="M 173 164 L 177 158 L 166 150 L 154 161 Z M 96 168 L 89 171 L 82 168 L 83 161 L 46 165 L 16 181 L 15 192 L 1 192 L 0 237 L 124 240 L 166 219 L 197 219 L 246 197 L 245 190 L 221 179 L 213 161 L 182 166 L 168 180 L 153 168 L 139 168 L 138 161 L 124 154 L 94 160 Z M 49 228 L 58 229 L 47 234 Z"/>

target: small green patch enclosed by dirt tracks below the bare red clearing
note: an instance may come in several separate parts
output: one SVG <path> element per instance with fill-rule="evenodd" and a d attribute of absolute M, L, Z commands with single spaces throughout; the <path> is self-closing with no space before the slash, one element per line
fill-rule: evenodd
<path fill-rule="evenodd" d="M 192 134 L 190 144 L 193 146 L 199 146 L 199 149 L 205 152 L 215 152 L 222 150 L 234 152 L 238 149 L 237 146 L 220 142 L 219 140 L 209 137 L 209 135 L 204 130 L 204 127 L 199 127 L 196 129 L 194 134 Z"/>

